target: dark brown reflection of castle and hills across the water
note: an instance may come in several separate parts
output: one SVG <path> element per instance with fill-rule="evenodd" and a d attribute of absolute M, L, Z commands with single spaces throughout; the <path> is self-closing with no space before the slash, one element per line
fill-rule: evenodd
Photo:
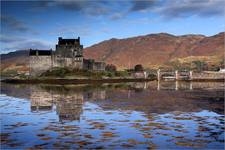
<path fill-rule="evenodd" d="M 66 122 L 80 120 L 85 102 L 110 110 L 145 113 L 211 110 L 221 114 L 223 89 L 223 82 L 153 81 L 66 86 L 3 84 L 1 93 L 30 100 L 32 113 L 56 112 L 59 121 Z M 211 100 L 215 99 L 219 101 L 212 105 Z"/>

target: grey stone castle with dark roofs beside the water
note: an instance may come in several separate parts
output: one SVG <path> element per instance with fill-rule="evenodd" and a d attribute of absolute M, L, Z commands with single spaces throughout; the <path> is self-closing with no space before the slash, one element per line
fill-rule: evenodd
<path fill-rule="evenodd" d="M 83 45 L 77 39 L 58 38 L 56 50 L 33 50 L 29 52 L 30 75 L 36 76 L 54 67 L 104 71 L 105 63 L 84 59 Z"/>

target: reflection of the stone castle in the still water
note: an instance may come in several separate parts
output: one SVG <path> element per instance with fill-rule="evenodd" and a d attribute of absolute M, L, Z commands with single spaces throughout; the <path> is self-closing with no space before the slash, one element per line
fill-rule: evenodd
<path fill-rule="evenodd" d="M 104 90 L 86 92 L 85 94 L 83 91 L 67 91 L 64 88 L 59 89 L 59 91 L 54 89 L 47 90 L 40 86 L 31 87 L 29 98 L 31 111 L 53 111 L 55 106 L 60 122 L 80 120 L 80 115 L 83 112 L 84 97 L 92 100 L 102 100 L 106 97 Z"/>

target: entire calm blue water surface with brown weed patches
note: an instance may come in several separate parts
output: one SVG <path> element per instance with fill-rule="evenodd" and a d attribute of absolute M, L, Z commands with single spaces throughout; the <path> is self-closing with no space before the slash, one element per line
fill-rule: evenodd
<path fill-rule="evenodd" d="M 2 149 L 224 149 L 224 83 L 2 84 Z"/>

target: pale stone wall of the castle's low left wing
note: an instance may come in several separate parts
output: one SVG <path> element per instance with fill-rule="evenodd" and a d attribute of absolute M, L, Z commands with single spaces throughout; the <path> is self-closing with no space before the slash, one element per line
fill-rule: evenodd
<path fill-rule="evenodd" d="M 30 56 L 30 75 L 36 76 L 52 68 L 52 56 Z"/>

